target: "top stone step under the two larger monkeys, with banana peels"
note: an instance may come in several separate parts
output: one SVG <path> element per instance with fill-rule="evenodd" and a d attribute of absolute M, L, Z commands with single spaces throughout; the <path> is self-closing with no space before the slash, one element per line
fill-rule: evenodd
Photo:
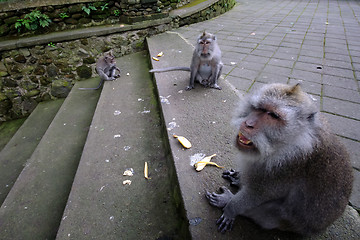
<path fill-rule="evenodd" d="M 150 56 L 164 53 L 159 61 L 152 60 L 154 68 L 190 65 L 194 48 L 177 33 L 167 32 L 148 38 L 147 45 Z M 196 172 L 191 164 L 199 156 L 216 154 L 213 162 L 224 169 L 236 168 L 233 160 L 236 159 L 237 133 L 231 125 L 231 118 L 240 98 L 226 79 L 219 80 L 221 91 L 199 84 L 195 89 L 185 91 L 189 72 L 163 72 L 154 76 L 191 238 L 303 239 L 286 232 L 263 230 L 244 217 L 236 218 L 232 231 L 226 234 L 217 231 L 215 223 L 222 211 L 210 206 L 205 190 L 218 192 L 220 186 L 229 187 L 229 183 L 221 177 L 223 169 L 207 166 Z M 188 138 L 192 147 L 184 149 L 173 134 Z M 236 189 L 232 190 L 235 192 Z M 325 233 L 307 239 L 358 239 L 358 232 L 359 216 L 353 208 L 347 207 L 343 217 Z"/>

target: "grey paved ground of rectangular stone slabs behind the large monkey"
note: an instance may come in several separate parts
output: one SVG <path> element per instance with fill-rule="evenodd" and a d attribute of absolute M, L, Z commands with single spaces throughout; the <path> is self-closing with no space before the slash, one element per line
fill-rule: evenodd
<path fill-rule="evenodd" d="M 203 30 L 217 35 L 223 76 L 240 94 L 300 82 L 316 99 L 351 154 L 351 203 L 359 208 L 360 1 L 239 0 L 220 17 L 176 31 L 194 43 Z"/>

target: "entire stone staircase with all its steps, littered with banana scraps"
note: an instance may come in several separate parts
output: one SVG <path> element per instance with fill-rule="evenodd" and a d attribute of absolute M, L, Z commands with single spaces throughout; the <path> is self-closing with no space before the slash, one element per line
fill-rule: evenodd
<path fill-rule="evenodd" d="M 0 239 L 302 239 L 244 218 L 217 232 L 221 211 L 204 193 L 227 184 L 223 170 L 196 172 L 191 161 L 216 153 L 212 161 L 233 167 L 237 93 L 224 79 L 222 91 L 185 91 L 188 72 L 156 73 L 152 81 L 152 67 L 189 65 L 192 46 L 176 33 L 147 45 L 149 53 L 117 59 L 122 76 L 101 91 L 78 90 L 96 86 L 94 78 L 77 82 L 65 101 L 39 104 L 0 152 Z M 193 147 L 185 150 L 173 134 Z M 123 176 L 127 169 L 134 175 Z M 347 208 L 309 239 L 358 239 L 359 221 Z"/>

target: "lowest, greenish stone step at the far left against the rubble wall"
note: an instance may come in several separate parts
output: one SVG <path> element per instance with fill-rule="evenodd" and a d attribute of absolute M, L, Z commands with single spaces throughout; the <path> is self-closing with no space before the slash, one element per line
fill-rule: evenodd
<path fill-rule="evenodd" d="M 0 205 L 63 102 L 59 99 L 39 103 L 0 152 Z"/>

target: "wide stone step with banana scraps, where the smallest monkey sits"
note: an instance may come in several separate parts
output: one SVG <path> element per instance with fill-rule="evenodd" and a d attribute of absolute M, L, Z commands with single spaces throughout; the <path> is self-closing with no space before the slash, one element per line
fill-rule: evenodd
<path fill-rule="evenodd" d="M 148 55 L 131 54 L 117 63 L 122 75 L 104 85 L 56 239 L 169 239 L 183 234 Z M 145 162 L 151 179 L 144 178 Z M 123 176 L 128 168 L 133 176 Z M 131 185 L 123 185 L 125 180 Z"/>

